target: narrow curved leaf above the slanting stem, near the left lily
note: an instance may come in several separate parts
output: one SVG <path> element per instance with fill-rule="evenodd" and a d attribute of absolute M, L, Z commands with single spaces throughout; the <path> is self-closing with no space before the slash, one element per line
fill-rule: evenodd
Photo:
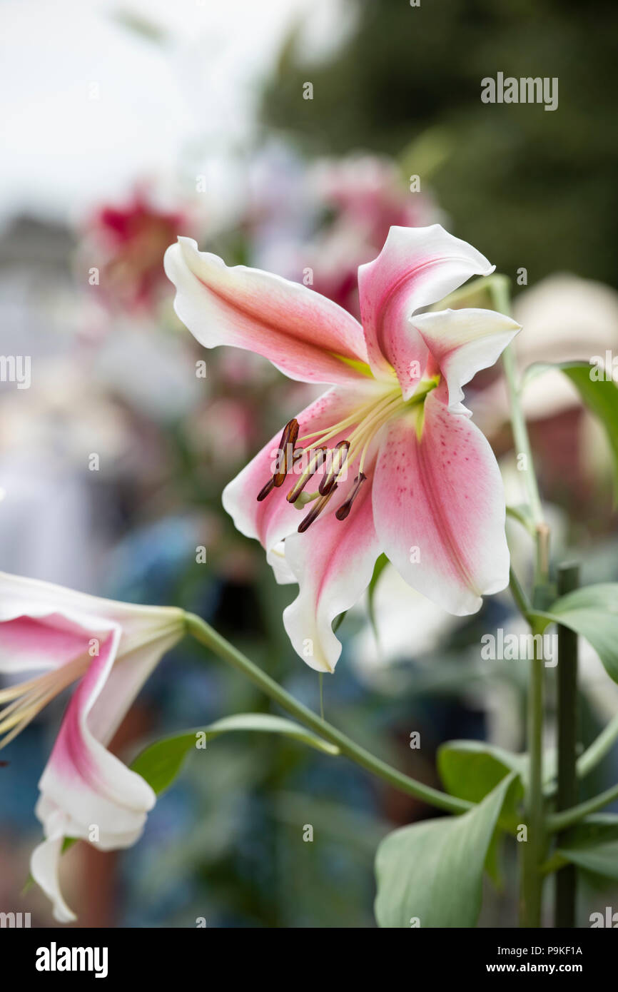
<path fill-rule="evenodd" d="M 309 744 L 309 747 L 314 747 L 325 754 L 335 755 L 339 753 L 339 749 L 334 744 L 321 740 L 293 720 L 285 719 L 282 716 L 273 716 L 270 713 L 237 713 L 234 716 L 225 716 L 221 720 L 216 720 L 215 723 L 211 723 L 207 727 L 195 727 L 193 730 L 185 730 L 183 733 L 164 737 L 142 751 L 131 768 L 138 775 L 141 775 L 157 794 L 162 793 L 172 785 L 183 767 L 186 754 L 195 747 L 198 739 L 202 739 L 201 735 L 205 735 L 205 740 L 208 741 L 213 737 L 218 737 L 219 734 L 232 730 L 257 730 L 261 733 L 285 734 L 287 737 L 294 737 L 303 744 Z"/>

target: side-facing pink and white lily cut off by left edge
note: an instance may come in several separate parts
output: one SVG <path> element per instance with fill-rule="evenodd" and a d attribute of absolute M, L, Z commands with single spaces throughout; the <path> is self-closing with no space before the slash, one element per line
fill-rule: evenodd
<path fill-rule="evenodd" d="M 39 782 L 36 813 L 45 840 L 31 871 L 61 923 L 75 919 L 62 898 L 64 837 L 101 850 L 129 847 L 155 805 L 151 787 L 106 744 L 162 655 L 183 636 L 185 614 L 134 606 L 0 572 L 0 747 L 4 747 L 72 682 L 50 760 Z"/>

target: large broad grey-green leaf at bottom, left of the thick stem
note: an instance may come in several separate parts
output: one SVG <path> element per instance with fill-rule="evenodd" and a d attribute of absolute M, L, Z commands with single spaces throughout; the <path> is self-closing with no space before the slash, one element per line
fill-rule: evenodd
<path fill-rule="evenodd" d="M 514 780 L 512 772 L 460 816 L 413 823 L 382 841 L 376 855 L 378 926 L 475 926 L 483 865 Z"/>

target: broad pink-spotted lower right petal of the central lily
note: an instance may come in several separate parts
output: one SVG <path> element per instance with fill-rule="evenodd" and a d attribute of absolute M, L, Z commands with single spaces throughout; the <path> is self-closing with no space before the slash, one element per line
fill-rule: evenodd
<path fill-rule="evenodd" d="M 450 613 L 475 613 L 505 588 L 505 500 L 494 453 L 466 417 L 431 393 L 420 414 L 393 421 L 373 485 L 376 532 L 406 581 Z"/>

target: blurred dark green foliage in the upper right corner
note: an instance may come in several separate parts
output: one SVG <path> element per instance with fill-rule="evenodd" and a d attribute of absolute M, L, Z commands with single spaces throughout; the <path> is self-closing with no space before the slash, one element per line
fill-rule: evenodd
<path fill-rule="evenodd" d="M 611 0 L 350 0 L 332 59 L 292 33 L 266 90 L 268 126 L 309 154 L 368 148 L 431 184 L 460 236 L 537 282 L 575 271 L 618 285 L 618 99 Z M 480 80 L 556 76 L 556 111 L 484 104 Z M 303 83 L 313 99 L 302 100 Z M 462 232 L 465 232 L 463 235 Z"/>

